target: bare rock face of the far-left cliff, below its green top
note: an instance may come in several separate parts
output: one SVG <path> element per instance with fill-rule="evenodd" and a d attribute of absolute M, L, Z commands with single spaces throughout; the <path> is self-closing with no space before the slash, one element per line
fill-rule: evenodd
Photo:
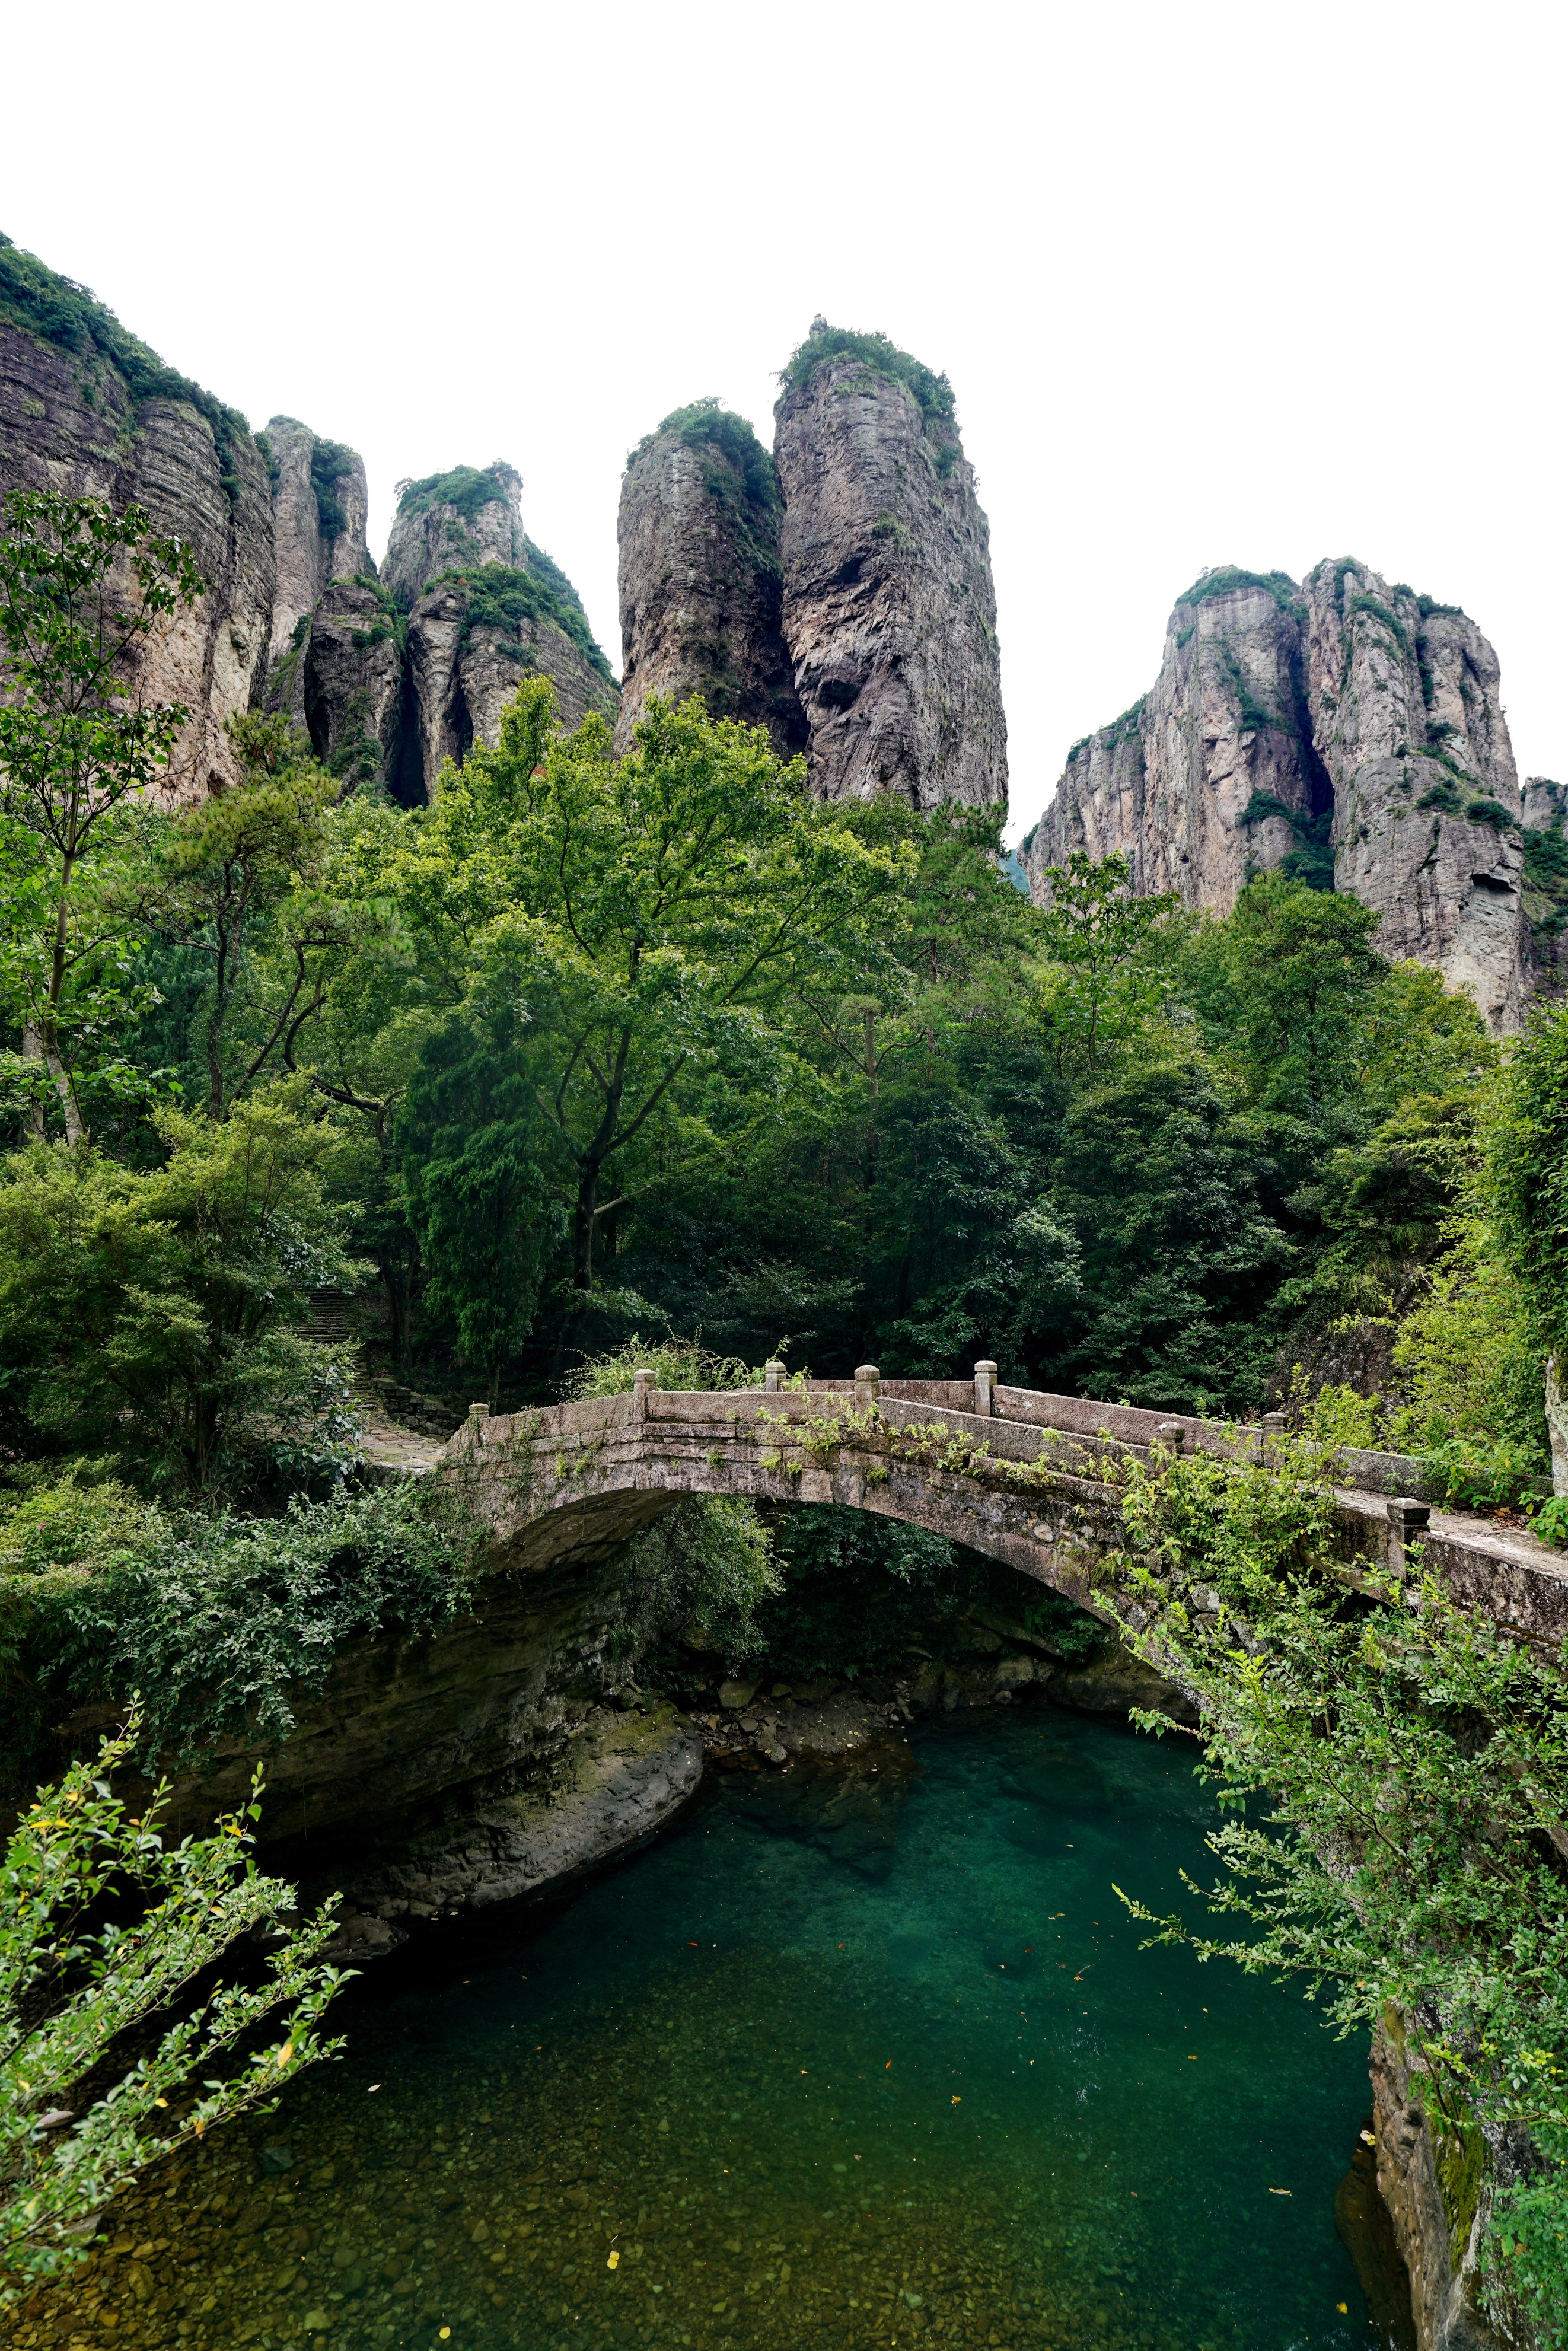
<path fill-rule="evenodd" d="M 212 423 L 190 402 L 136 402 L 106 357 L 89 367 L 0 320 L 0 491 L 7 489 L 139 501 L 153 531 L 190 543 L 205 592 L 143 639 L 132 691 L 190 710 L 162 797 L 193 799 L 233 783 L 237 766 L 223 719 L 247 710 L 261 684 L 275 585 L 270 484 L 249 435 L 237 433 L 221 454 Z"/>

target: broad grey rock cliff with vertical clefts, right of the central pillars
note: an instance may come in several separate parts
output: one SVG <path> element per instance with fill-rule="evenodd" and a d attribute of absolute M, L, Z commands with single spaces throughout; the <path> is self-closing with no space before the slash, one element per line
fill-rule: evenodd
<path fill-rule="evenodd" d="M 1211 912 L 1281 865 L 1361 898 L 1385 955 L 1434 964 L 1509 1032 L 1533 962 L 1523 813 L 1476 623 L 1340 560 L 1300 585 L 1204 574 L 1152 691 L 1074 743 L 1020 853 L 1037 898 L 1074 849 L 1119 849 L 1140 893 Z"/>

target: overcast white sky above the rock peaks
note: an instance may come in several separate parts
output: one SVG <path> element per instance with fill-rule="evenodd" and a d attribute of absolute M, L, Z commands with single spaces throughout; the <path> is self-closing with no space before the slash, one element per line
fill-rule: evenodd
<path fill-rule="evenodd" d="M 1568 773 L 1563 9 L 378 5 L 12 12 L 0 228 L 261 426 L 505 456 L 621 658 L 628 447 L 771 440 L 816 310 L 959 397 L 1016 839 L 1204 564 L 1465 604 Z"/>

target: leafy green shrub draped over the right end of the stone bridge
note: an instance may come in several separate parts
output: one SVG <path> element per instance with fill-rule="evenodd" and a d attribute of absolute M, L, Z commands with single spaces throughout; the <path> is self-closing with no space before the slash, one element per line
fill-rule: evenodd
<path fill-rule="evenodd" d="M 1199 1958 L 1302 1977 L 1349 2034 L 1403 2041 L 1434 2130 L 1521 2123 L 1542 2168 L 1493 2205 L 1509 2288 L 1563 2344 L 1568 2311 L 1568 1686 L 1436 1575 L 1349 1587 L 1307 1448 L 1272 1467 L 1128 1462 L 1124 1629 L 1204 1709 L 1204 1777 L 1234 1815 L 1192 1881 Z M 1356 1561 L 1356 1568 L 1363 1568 Z M 1150 1730 L 1168 1730 L 1145 1716 Z"/>

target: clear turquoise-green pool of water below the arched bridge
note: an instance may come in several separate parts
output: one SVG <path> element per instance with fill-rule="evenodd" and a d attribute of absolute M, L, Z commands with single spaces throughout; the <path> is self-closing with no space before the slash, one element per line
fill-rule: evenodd
<path fill-rule="evenodd" d="M 350 1994 L 346 2062 L 127 2224 L 118 2339 L 1382 2342 L 1333 2226 L 1363 2055 L 1114 1897 L 1192 1907 L 1190 1763 L 1030 1707 L 710 1780 L 548 1921 Z"/>

